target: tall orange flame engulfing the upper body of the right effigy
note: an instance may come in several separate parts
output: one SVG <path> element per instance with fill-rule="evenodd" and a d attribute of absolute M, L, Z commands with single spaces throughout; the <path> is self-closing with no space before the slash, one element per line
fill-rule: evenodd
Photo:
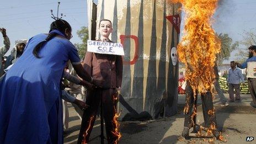
<path fill-rule="evenodd" d="M 177 46 L 179 60 L 186 65 L 186 81 L 194 92 L 210 91 L 215 78 L 213 71 L 220 40 L 211 28 L 211 18 L 218 0 L 172 0 L 180 2 L 186 13 L 184 36 Z"/>

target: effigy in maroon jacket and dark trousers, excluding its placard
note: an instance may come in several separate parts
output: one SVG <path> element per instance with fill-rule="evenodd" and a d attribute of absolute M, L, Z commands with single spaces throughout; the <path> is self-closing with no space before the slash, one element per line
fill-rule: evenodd
<path fill-rule="evenodd" d="M 108 19 L 100 20 L 98 41 L 113 42 L 109 40 L 112 31 L 112 23 Z M 108 143 L 118 143 L 120 133 L 117 130 L 114 116 L 116 115 L 116 99 L 120 93 L 122 82 L 122 57 L 118 55 L 96 54 L 87 52 L 83 62 L 84 70 L 92 74 L 93 79 L 102 81 L 94 90 L 88 90 L 86 104 L 90 107 L 84 110 L 78 143 L 87 143 L 90 132 L 98 112 L 99 104 L 102 102 L 103 116 L 106 127 Z"/>

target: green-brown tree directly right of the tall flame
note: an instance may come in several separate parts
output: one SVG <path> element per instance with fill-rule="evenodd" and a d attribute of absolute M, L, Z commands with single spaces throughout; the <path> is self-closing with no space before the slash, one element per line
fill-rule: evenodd
<path fill-rule="evenodd" d="M 237 49 L 237 47 L 239 46 L 239 42 L 235 41 L 232 44 L 233 40 L 230 38 L 230 36 L 228 36 L 228 34 L 220 33 L 219 35 L 216 35 L 221 41 L 221 51 L 219 54 L 217 54 L 217 64 L 221 65 L 224 60 L 228 60 L 231 52 Z"/>

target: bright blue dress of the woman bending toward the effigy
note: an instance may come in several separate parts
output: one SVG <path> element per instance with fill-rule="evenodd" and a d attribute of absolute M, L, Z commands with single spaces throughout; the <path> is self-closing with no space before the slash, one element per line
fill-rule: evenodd
<path fill-rule="evenodd" d="M 36 58 L 34 47 L 46 37 L 31 38 L 0 81 L 0 143 L 63 143 L 60 82 L 67 61 L 76 65 L 80 58 L 69 40 L 57 36 Z"/>

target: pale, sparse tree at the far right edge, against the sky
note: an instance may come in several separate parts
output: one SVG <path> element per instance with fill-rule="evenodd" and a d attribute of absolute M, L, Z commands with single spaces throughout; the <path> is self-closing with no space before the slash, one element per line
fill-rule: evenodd
<path fill-rule="evenodd" d="M 238 62 L 244 62 L 248 58 L 248 47 L 251 45 L 256 45 L 256 29 L 250 29 L 249 31 L 244 31 L 243 40 L 240 42 L 242 45 L 246 46 L 244 49 L 239 49 L 238 54 L 239 56 Z"/>

